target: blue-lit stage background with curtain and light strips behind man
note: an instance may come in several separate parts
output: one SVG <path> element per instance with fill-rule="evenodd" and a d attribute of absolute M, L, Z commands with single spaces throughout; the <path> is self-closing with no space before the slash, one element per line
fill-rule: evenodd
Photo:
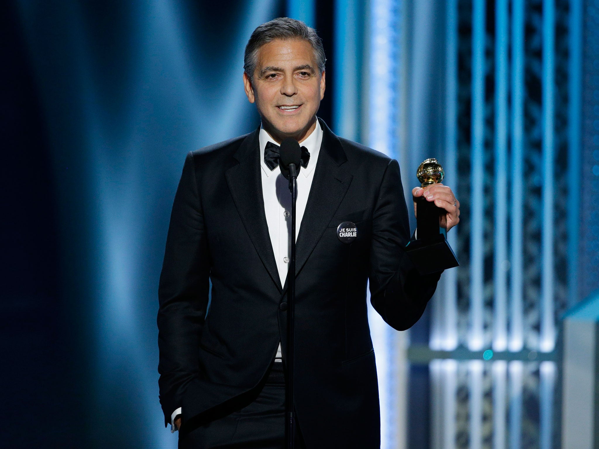
<path fill-rule="evenodd" d="M 319 116 L 406 187 L 438 157 L 462 205 L 422 320 L 370 313 L 382 447 L 561 447 L 561 317 L 599 287 L 597 0 L 3 2 L 3 447 L 176 447 L 174 192 L 188 151 L 259 125 L 243 48 L 286 15 L 323 38 Z"/>

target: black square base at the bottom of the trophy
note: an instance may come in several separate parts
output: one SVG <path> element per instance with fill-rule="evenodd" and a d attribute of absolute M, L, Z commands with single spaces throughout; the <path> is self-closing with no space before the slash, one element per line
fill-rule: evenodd
<path fill-rule="evenodd" d="M 421 275 L 459 266 L 458 258 L 442 233 L 434 238 L 410 241 L 406 253 Z"/>

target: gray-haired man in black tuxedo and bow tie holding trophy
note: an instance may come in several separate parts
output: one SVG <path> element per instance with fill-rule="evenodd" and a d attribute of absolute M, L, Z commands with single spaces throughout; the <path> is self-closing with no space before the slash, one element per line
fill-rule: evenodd
<path fill-rule="evenodd" d="M 409 223 L 397 161 L 338 138 L 316 118 L 325 56 L 293 19 L 256 28 L 244 87 L 260 129 L 187 155 L 159 287 L 161 404 L 180 447 L 282 448 L 291 195 L 277 146 L 302 148 L 298 175 L 295 410 L 298 447 L 380 446 L 366 288 L 387 323 L 408 329 L 440 274 L 404 252 Z M 415 188 L 446 210 L 449 187 Z M 353 242 L 337 227 L 352 222 Z M 210 296 L 211 283 L 211 300 Z M 283 363 L 281 363 L 283 360 Z"/>

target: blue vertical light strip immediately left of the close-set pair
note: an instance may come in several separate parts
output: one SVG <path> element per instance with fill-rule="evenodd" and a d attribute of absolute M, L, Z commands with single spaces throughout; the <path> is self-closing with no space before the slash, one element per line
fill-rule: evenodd
<path fill-rule="evenodd" d="M 485 0 L 474 0 L 472 16 L 472 139 L 470 217 L 470 338 L 468 348 L 483 348 L 483 232 L 485 199 Z"/>

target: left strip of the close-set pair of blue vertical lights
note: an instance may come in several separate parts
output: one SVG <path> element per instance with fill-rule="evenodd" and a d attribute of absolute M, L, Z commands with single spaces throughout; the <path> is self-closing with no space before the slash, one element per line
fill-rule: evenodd
<path fill-rule="evenodd" d="M 495 248 L 493 348 L 507 348 L 507 22 L 508 0 L 495 3 Z"/>

